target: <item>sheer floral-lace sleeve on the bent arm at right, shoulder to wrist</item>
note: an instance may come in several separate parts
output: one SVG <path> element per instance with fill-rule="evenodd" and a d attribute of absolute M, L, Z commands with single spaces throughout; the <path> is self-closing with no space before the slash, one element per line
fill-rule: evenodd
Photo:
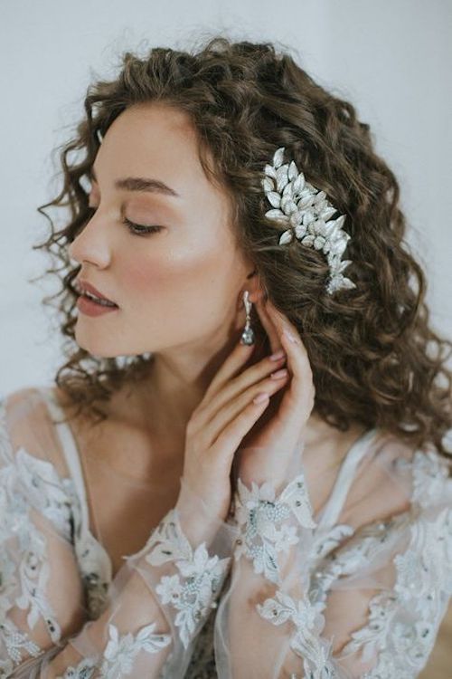
<path fill-rule="evenodd" d="M 451 491 L 438 454 L 383 449 L 343 512 L 372 520 L 322 529 L 303 472 L 279 489 L 240 479 L 219 679 L 417 677 L 452 592 Z"/>

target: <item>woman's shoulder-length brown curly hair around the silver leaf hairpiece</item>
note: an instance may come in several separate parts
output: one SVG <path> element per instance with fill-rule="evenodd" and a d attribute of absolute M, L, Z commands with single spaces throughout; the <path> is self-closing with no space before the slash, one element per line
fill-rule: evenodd
<path fill-rule="evenodd" d="M 70 403 L 103 419 L 102 402 L 113 390 L 146 375 L 149 355 L 98 358 L 75 342 L 78 293 L 72 282 L 80 265 L 71 263 L 67 246 L 89 221 L 84 181 L 91 179 L 99 137 L 128 107 L 162 102 L 190 117 L 206 177 L 231 196 L 231 228 L 243 252 L 255 263 L 268 298 L 300 332 L 316 413 L 343 431 L 354 420 L 418 447 L 434 445 L 447 456 L 452 343 L 429 324 L 425 275 L 403 240 L 400 186 L 353 105 L 326 91 L 273 43 L 234 43 L 216 35 L 192 53 L 155 47 L 144 58 L 128 51 L 121 58 L 116 80 L 89 85 L 85 116 L 73 139 L 59 148 L 61 192 L 37 208 L 52 234 L 33 249 L 45 248 L 55 258 L 46 273 L 62 284 L 43 303 L 58 300 L 66 362 L 55 382 Z M 285 227 L 265 216 L 261 177 L 282 146 L 346 215 L 352 260 L 347 276 L 355 289 L 329 295 L 322 253 L 296 239 L 278 245 Z M 71 161 L 74 151 L 82 158 Z M 61 230 L 43 209 L 49 206 L 70 207 Z"/>

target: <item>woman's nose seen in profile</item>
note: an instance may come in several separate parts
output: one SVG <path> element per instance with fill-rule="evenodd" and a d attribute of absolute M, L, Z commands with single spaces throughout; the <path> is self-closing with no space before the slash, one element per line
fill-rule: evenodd
<path fill-rule="evenodd" d="M 71 259 L 89 262 L 105 268 L 111 261 L 111 243 L 108 238 L 108 218 L 99 216 L 99 209 L 82 228 L 68 247 Z M 111 231 L 111 230 L 110 230 Z"/>

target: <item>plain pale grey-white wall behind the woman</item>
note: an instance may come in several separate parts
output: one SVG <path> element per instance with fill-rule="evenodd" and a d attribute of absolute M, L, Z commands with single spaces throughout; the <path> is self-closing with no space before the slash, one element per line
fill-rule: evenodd
<path fill-rule="evenodd" d="M 428 280 L 431 324 L 452 336 L 452 2 L 449 0 L 0 0 L 0 391 L 52 382 L 61 365 L 48 234 L 36 208 L 60 190 L 52 149 L 83 114 L 89 82 L 118 55 L 190 49 L 203 34 L 278 41 L 315 80 L 356 106 L 401 188 Z M 52 217 L 61 220 L 58 211 Z"/>

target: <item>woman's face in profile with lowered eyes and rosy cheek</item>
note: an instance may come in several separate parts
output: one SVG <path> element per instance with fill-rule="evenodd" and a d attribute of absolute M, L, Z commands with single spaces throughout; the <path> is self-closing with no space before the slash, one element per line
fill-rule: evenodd
<path fill-rule="evenodd" d="M 80 347 L 111 358 L 227 339 L 242 292 L 253 290 L 247 281 L 253 267 L 234 242 L 226 194 L 203 174 L 184 112 L 161 103 L 125 110 L 103 138 L 93 169 L 89 206 L 97 209 L 69 253 L 81 264 L 78 278 L 118 309 L 99 316 L 79 310 Z M 116 186 L 126 177 L 155 185 Z M 134 234 L 124 218 L 161 230 Z"/>

